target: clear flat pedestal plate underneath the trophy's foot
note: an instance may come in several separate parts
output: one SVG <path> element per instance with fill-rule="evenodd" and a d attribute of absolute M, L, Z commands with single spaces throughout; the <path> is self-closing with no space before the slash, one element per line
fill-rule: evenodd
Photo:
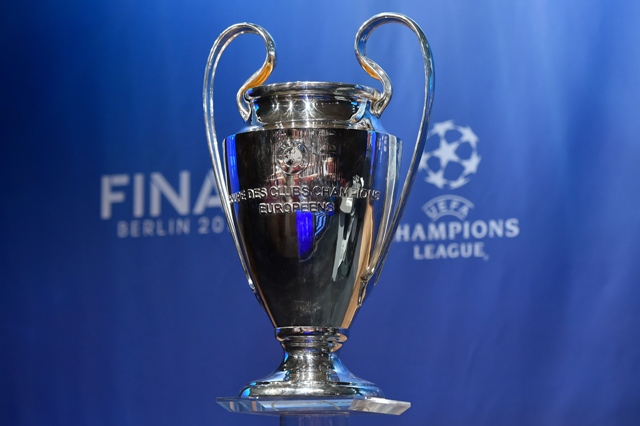
<path fill-rule="evenodd" d="M 404 413 L 411 403 L 386 398 L 218 398 L 228 411 L 280 417 L 280 426 L 348 426 L 351 414 Z"/>

